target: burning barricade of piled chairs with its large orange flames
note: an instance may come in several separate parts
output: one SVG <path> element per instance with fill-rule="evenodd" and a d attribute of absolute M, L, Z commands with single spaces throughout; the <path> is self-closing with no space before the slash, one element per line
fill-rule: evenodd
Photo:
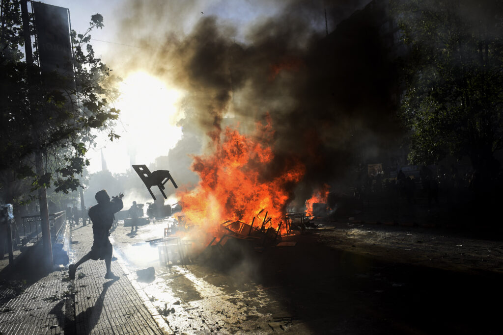
<path fill-rule="evenodd" d="M 257 124 L 250 136 L 227 128 L 215 137 L 211 154 L 193 158 L 199 183 L 191 190 L 178 189 L 182 211 L 165 237 L 183 237 L 170 240 L 170 248 L 180 250 L 180 259 L 223 248 L 229 241 L 255 250 L 277 245 L 295 231 L 305 230 L 313 203 L 326 203 L 328 185 L 308 200 L 306 213 L 287 211 L 305 165 L 295 156 L 276 156 L 273 135 L 269 120 Z M 159 257 L 166 260 L 169 252 L 163 253 Z"/>

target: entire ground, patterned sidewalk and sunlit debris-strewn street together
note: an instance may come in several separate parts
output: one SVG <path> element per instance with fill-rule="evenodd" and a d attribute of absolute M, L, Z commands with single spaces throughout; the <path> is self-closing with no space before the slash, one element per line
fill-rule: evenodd
<path fill-rule="evenodd" d="M 18 269 L 16 281 L 1 277 L 0 331 L 500 332 L 503 243 L 495 236 L 318 221 L 317 229 L 288 238 L 294 246 L 257 250 L 231 240 L 170 267 L 159 262 L 157 246 L 146 243 L 162 237 L 167 222 L 133 234 L 120 222 L 111 236 L 117 281 L 105 280 L 104 262 L 93 261 L 78 269 L 74 281 L 65 267 L 32 273 L 35 264 Z M 92 229 L 66 232 L 63 249 L 74 261 L 90 249 Z M 150 266 L 155 278 L 140 280 L 136 271 Z"/>

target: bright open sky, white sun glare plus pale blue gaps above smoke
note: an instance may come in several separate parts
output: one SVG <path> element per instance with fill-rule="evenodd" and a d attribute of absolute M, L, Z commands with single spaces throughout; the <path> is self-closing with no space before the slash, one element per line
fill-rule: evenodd
<path fill-rule="evenodd" d="M 124 1 L 46 0 L 42 2 L 68 8 L 71 28 L 77 33 L 87 30 L 93 14 L 102 14 L 105 27 L 91 33 L 92 44 L 96 54 L 101 56 L 112 69 L 114 61 L 120 62 L 116 58 L 107 60 L 112 49 L 121 48 L 120 51 L 123 49 L 124 53 L 135 50 L 134 46 L 113 44 L 117 42 L 116 36 L 119 36 L 119 25 L 114 19 L 117 18 L 117 13 L 127 14 Z M 236 27 L 244 27 L 259 17 L 274 15 L 282 7 L 281 2 L 272 3 L 274 5 L 261 2 L 261 6 L 257 6 L 257 2 L 251 0 L 196 0 L 193 4 L 194 11 L 189 10 L 181 20 L 184 33 L 190 32 L 202 15 L 217 15 L 220 20 Z M 242 32 L 238 32 L 237 37 L 244 38 Z M 92 149 L 87 155 L 91 162 L 89 167 L 91 173 L 100 171 L 102 168 L 101 150 L 103 150 L 108 170 L 112 173 L 120 173 L 131 168 L 130 156 L 135 156 L 133 163 L 148 165 L 153 163 L 156 157 L 167 155 L 182 134 L 182 130 L 175 124 L 176 115 L 179 115 L 177 102 L 183 92 L 176 89 L 176 83 L 162 82 L 152 75 L 136 72 L 134 69 L 125 74 L 114 73 L 124 79 L 120 85 L 121 97 L 115 103 L 115 107 L 121 109 L 120 122 L 116 128 L 121 139 L 111 143 L 106 135 L 100 135 L 97 139 L 97 150 Z"/>

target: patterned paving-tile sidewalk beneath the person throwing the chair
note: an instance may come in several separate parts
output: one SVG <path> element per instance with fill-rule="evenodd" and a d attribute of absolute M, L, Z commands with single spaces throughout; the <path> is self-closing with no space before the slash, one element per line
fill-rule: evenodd
<path fill-rule="evenodd" d="M 75 262 L 91 250 L 92 226 L 67 228 L 63 240 L 70 262 Z M 104 278 L 105 261 L 81 265 L 75 280 L 69 279 L 67 269 L 56 268 L 32 284 L 3 281 L 0 334 L 165 333 L 148 299 L 135 290 L 118 262 L 112 262 L 118 280 Z"/>

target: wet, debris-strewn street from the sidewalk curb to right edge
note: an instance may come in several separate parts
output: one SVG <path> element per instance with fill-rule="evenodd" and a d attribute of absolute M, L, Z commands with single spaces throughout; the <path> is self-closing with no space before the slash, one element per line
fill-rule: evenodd
<path fill-rule="evenodd" d="M 228 243 L 159 264 L 167 221 L 119 225 L 114 253 L 173 333 L 494 333 L 502 245 L 422 228 L 325 222 L 333 230 L 261 252 Z M 487 256 L 489 255 L 489 256 Z M 490 261 L 487 261 L 490 260 Z M 155 279 L 136 271 L 153 266 Z"/>

